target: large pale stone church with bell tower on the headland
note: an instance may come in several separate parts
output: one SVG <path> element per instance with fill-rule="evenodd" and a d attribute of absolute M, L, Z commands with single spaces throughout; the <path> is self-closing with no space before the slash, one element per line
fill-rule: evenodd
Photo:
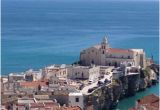
<path fill-rule="evenodd" d="M 80 52 L 80 62 L 84 66 L 95 64 L 119 67 L 123 63 L 145 68 L 146 55 L 143 49 L 112 48 L 107 37 L 104 37 L 101 44 Z"/>

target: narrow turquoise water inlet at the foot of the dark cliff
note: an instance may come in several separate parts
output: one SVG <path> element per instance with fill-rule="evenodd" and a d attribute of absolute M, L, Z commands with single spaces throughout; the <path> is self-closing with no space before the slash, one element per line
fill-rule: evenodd
<path fill-rule="evenodd" d="M 157 64 L 156 64 L 157 65 Z M 7 77 L 6 75 L 5 76 L 3 76 L 3 77 Z M 135 76 L 131 76 L 130 77 L 130 80 L 133 80 L 133 81 L 135 81 L 136 82 L 136 80 L 139 80 L 139 79 L 137 79 L 138 77 L 135 77 Z M 129 80 L 129 79 L 128 79 Z M 129 82 L 131 82 L 131 81 L 129 81 Z M 117 83 L 119 83 L 119 81 L 117 82 Z M 120 84 L 120 83 L 119 83 Z M 115 89 L 115 91 L 117 91 L 118 92 L 118 94 L 121 96 L 122 94 L 120 94 L 121 93 L 121 90 L 120 90 L 120 88 L 122 88 L 122 86 L 124 86 L 124 85 L 117 85 L 117 84 L 113 84 L 113 86 L 111 86 L 111 89 Z M 134 83 L 133 84 L 133 86 L 135 85 L 136 83 Z M 114 87 L 115 86 L 115 87 Z M 117 89 L 118 88 L 118 89 Z M 100 90 L 101 90 L 102 88 L 100 88 Z M 105 91 L 112 91 L 112 90 L 109 90 L 108 89 L 108 87 L 106 88 L 106 87 L 104 87 L 104 89 L 105 89 Z M 151 84 L 149 87 L 148 87 L 148 85 L 147 85 L 147 87 L 144 87 L 144 89 L 142 89 L 142 90 L 139 90 L 139 91 L 134 91 L 134 93 L 132 94 L 132 92 L 131 92 L 131 94 L 129 93 L 128 95 L 124 95 L 124 96 L 122 96 L 122 98 L 118 98 L 118 97 L 120 97 L 120 96 L 117 96 L 117 99 L 119 100 L 118 102 L 116 102 L 116 100 L 117 99 L 115 99 L 115 102 L 113 102 L 110 106 L 111 106 L 111 108 L 113 107 L 113 108 L 116 108 L 116 109 L 118 109 L 118 110 L 128 110 L 128 108 L 130 108 L 130 107 L 133 107 L 134 105 L 135 105 L 135 101 L 136 100 L 138 100 L 139 98 L 142 98 L 143 96 L 146 96 L 146 95 L 149 95 L 149 94 L 153 94 L 153 93 L 156 93 L 157 91 L 159 90 L 159 82 L 158 82 L 158 84 L 156 83 L 155 85 L 154 84 Z M 99 91 L 99 90 L 98 90 Z M 110 94 L 110 93 L 113 93 L 113 92 L 109 92 L 108 94 Z M 95 94 L 95 93 L 93 93 L 93 94 Z M 104 94 L 103 94 L 104 95 Z M 102 96 L 103 96 L 102 95 Z M 157 95 L 157 93 L 156 93 L 156 95 Z M 159 95 L 159 94 L 158 94 Z M 100 96 L 100 97 L 102 97 L 102 96 Z M 113 93 L 113 97 L 115 97 L 115 94 Z M 127 103 L 127 106 L 126 106 L 126 103 Z M 106 102 L 106 104 L 108 105 L 108 102 Z M 99 104 L 98 104 L 99 105 Z M 104 104 L 104 106 L 105 106 L 105 104 Z M 108 110 L 108 109 L 107 109 Z"/>

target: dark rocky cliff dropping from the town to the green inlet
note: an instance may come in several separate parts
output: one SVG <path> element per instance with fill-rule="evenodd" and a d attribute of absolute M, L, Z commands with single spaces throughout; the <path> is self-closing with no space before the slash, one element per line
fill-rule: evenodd
<path fill-rule="evenodd" d="M 153 78 L 154 76 L 154 78 Z M 145 91 L 159 80 L 159 65 L 152 64 L 146 69 L 140 69 L 140 74 L 122 76 L 111 85 L 96 90 L 85 97 L 86 110 L 115 110 L 118 102 L 134 96 L 137 92 Z"/>

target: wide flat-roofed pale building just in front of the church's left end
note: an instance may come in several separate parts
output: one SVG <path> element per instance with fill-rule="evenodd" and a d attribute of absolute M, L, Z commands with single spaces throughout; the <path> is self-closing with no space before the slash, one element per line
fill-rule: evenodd
<path fill-rule="evenodd" d="M 95 81 L 100 76 L 99 66 L 71 66 L 67 68 L 68 78 L 70 79 L 88 79 Z"/>

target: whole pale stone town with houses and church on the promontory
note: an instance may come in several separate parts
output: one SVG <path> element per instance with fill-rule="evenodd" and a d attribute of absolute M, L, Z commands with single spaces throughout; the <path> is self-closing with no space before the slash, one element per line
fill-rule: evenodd
<path fill-rule="evenodd" d="M 143 49 L 110 48 L 105 37 L 100 45 L 80 53 L 80 64 L 1 77 L 2 105 L 13 110 L 84 110 L 85 95 L 123 75 L 139 74 L 139 68 L 151 63 Z M 12 96 L 17 98 L 9 100 Z"/>

